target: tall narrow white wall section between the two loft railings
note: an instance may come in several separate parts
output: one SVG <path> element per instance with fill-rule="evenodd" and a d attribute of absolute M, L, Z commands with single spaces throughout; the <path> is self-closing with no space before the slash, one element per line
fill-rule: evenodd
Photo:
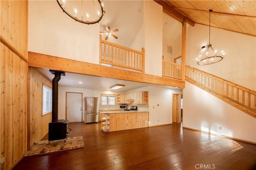
<path fill-rule="evenodd" d="M 162 6 L 144 1 L 145 73 L 162 76 Z"/>

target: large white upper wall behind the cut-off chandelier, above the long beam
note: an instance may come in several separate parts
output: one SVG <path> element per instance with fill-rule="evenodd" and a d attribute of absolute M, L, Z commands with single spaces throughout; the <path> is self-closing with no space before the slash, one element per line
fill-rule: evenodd
<path fill-rule="evenodd" d="M 99 24 L 68 17 L 55 0 L 28 1 L 28 51 L 99 64 Z"/>

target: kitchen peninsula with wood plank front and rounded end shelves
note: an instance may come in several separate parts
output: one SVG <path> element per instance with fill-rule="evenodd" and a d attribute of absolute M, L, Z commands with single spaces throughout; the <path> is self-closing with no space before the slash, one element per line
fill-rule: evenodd
<path fill-rule="evenodd" d="M 148 111 L 106 111 L 102 114 L 106 115 L 104 117 L 106 121 L 102 121 L 102 125 L 105 125 L 102 127 L 103 131 L 112 132 L 148 127 Z"/>

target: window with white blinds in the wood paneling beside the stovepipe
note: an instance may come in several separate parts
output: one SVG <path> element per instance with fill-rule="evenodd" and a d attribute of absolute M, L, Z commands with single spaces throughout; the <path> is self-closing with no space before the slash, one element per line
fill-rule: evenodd
<path fill-rule="evenodd" d="M 52 89 L 43 85 L 43 111 L 42 115 L 52 112 Z"/>

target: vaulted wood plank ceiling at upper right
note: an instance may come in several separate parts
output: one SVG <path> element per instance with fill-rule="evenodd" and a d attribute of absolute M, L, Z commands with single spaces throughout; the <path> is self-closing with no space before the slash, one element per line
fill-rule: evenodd
<path fill-rule="evenodd" d="M 256 36 L 255 0 L 155 0 L 163 12 L 179 22 L 209 25 L 211 27 Z"/>

